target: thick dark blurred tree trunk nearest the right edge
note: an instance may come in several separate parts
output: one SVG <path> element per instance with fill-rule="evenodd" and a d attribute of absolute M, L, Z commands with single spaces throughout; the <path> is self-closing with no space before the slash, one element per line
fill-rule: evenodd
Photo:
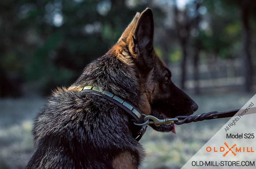
<path fill-rule="evenodd" d="M 245 74 L 245 91 L 249 92 L 252 88 L 252 58 L 250 54 L 250 24 L 249 24 L 249 8 L 251 0 L 241 0 L 241 23 L 242 23 L 242 42 L 243 42 L 243 60 Z"/>

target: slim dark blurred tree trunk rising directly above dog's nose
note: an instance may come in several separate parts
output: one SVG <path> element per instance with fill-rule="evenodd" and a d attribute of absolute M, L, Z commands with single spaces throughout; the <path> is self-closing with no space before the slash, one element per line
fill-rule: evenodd
<path fill-rule="evenodd" d="M 195 44 L 194 44 L 194 57 L 193 57 L 193 69 L 194 69 L 194 83 L 195 83 L 195 94 L 200 94 L 200 90 L 199 90 L 199 68 L 198 68 L 198 63 L 199 63 L 199 55 L 200 55 L 200 50 L 201 50 L 201 40 L 199 38 L 199 32 L 200 32 L 200 28 L 199 28 L 199 23 L 201 20 L 200 17 L 200 13 L 199 13 L 199 8 L 200 8 L 200 3 L 198 1 L 195 1 L 195 6 L 196 6 L 196 17 L 195 17 L 195 29 L 197 31 L 197 36 L 196 36 L 196 40 L 195 40 Z"/>

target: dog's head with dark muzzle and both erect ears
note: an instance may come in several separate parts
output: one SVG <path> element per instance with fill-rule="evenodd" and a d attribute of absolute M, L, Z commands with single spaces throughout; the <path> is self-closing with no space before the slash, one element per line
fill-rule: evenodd
<path fill-rule="evenodd" d="M 144 112 L 159 119 L 178 115 L 191 115 L 197 104 L 172 82 L 172 74 L 159 59 L 153 47 L 154 21 L 150 8 L 137 13 L 124 31 L 118 43 L 128 48 L 136 62 L 139 79 L 151 111 Z M 152 125 L 158 131 L 170 131 L 171 126 Z"/>

